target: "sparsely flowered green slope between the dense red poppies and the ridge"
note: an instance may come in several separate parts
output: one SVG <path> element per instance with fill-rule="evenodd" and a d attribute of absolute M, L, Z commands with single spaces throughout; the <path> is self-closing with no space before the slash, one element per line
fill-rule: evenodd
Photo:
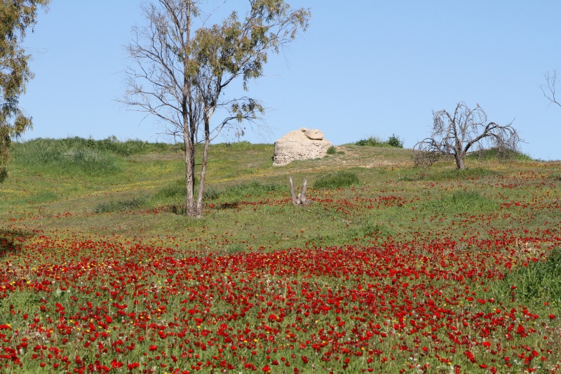
<path fill-rule="evenodd" d="M 215 199 L 207 199 L 203 220 L 190 220 L 170 208 L 182 204 L 180 152 L 172 146 L 146 148 L 129 156 L 106 152 L 111 157 L 108 172 L 76 171 L 65 163 L 29 166 L 25 152 L 15 149 L 11 177 L 1 185 L 0 219 L 23 232 L 123 239 L 157 240 L 194 229 L 197 245 L 219 250 L 224 245 L 278 249 L 302 248 L 311 242 L 367 243 L 372 232 L 402 237 L 424 232 L 430 237 L 453 222 L 491 212 L 496 212 L 492 222 L 496 229 L 520 229 L 523 222 L 525 229 L 535 230 L 543 222 L 555 226 L 560 218 L 555 209 L 534 215 L 525 208 L 509 208 L 508 215 L 499 214 L 505 196 L 526 203 L 557 201 L 559 163 L 471 160 L 464 172 L 455 171 L 452 163 L 421 169 L 412 167 L 407 149 L 347 145 L 339 147 L 344 154 L 273 167 L 272 145 L 241 143 L 211 147 L 208 191 Z M 313 189 L 318 177 L 337 170 L 350 170 L 363 183 L 337 191 Z M 318 202 L 293 208 L 288 175 L 297 185 L 307 176 L 309 196 Z M 273 187 L 267 191 L 263 185 Z M 263 204 L 267 200 L 273 203 Z M 262 205 L 256 208 L 253 204 L 259 202 Z M 349 210 L 339 208 L 342 202 Z M 489 222 L 471 220 L 458 225 L 457 233 L 485 236 Z M 222 236 L 227 239 L 215 239 Z"/>

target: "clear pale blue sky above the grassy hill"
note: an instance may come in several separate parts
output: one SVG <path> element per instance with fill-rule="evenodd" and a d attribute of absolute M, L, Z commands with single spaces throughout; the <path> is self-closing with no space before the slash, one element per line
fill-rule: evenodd
<path fill-rule="evenodd" d="M 334 145 L 395 133 L 412 147 L 428 135 L 433 111 L 465 101 L 479 103 L 490 121 L 513 121 L 523 152 L 561 159 L 561 107 L 539 88 L 545 72 L 561 70 L 561 1 L 288 2 L 311 8 L 310 26 L 250 86 L 269 108 L 271 131 L 248 131 L 245 140 L 272 143 L 307 127 Z M 210 0 L 208 9 L 221 3 Z M 25 40 L 36 77 L 20 100 L 34 119 L 24 139 L 165 140 L 154 119 L 114 100 L 125 88 L 123 46 L 144 22 L 139 5 L 53 0 L 39 15 Z M 244 5 L 227 0 L 222 9 Z"/>

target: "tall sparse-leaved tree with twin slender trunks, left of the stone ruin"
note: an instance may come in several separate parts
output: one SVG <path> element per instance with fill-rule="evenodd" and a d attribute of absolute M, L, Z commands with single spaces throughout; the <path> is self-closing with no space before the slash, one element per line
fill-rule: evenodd
<path fill-rule="evenodd" d="M 142 5 L 147 25 L 133 28 L 127 51 L 135 65 L 126 69 L 128 89 L 119 100 L 156 116 L 165 133 L 182 138 L 185 213 L 191 217 L 203 214 L 210 142 L 224 128 L 234 127 L 234 133 L 243 135 L 241 123 L 256 123 L 264 113 L 254 98 L 228 98 L 225 89 L 242 81 L 248 91 L 249 81 L 263 75 L 268 53 L 278 53 L 295 39 L 310 17 L 308 10 L 292 11 L 283 0 L 249 0 L 245 18 L 232 12 L 219 25 L 206 27 L 200 2 L 158 0 Z M 212 121 L 215 113 L 218 121 Z M 203 145 L 203 154 L 195 199 L 198 145 Z"/>

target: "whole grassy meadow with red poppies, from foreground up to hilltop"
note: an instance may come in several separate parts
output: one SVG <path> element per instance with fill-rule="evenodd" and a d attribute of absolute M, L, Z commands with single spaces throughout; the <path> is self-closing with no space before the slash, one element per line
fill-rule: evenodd
<path fill-rule="evenodd" d="M 560 370 L 559 161 L 336 150 L 273 168 L 273 145 L 212 145 L 194 220 L 177 145 L 15 144 L 0 372 Z"/>

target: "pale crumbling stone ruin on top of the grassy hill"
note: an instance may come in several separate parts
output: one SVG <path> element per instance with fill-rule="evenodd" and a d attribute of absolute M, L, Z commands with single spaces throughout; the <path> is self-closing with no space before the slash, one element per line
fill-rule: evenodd
<path fill-rule="evenodd" d="M 290 131 L 275 142 L 273 166 L 286 165 L 294 160 L 320 159 L 331 146 L 321 131 L 304 127 Z"/>

